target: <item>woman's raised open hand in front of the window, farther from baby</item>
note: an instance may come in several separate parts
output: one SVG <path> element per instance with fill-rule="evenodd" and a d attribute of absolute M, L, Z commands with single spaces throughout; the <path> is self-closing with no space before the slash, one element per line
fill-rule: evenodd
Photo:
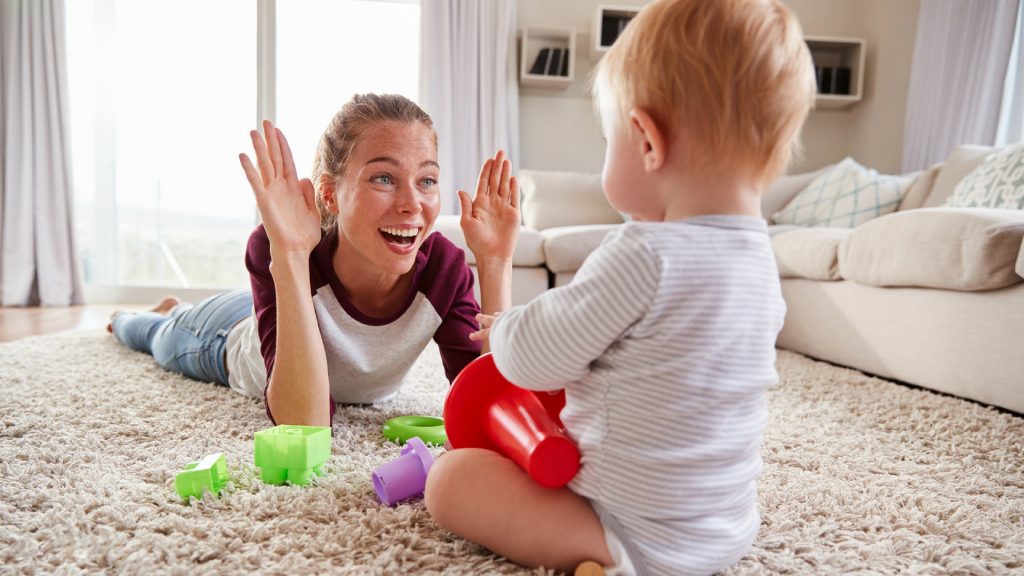
<path fill-rule="evenodd" d="M 256 196 L 270 250 L 309 254 L 321 240 L 312 182 L 309 178 L 299 179 L 288 140 L 269 120 L 263 121 L 265 139 L 256 130 L 249 135 L 259 170 L 245 154 L 240 154 L 239 160 Z"/>

